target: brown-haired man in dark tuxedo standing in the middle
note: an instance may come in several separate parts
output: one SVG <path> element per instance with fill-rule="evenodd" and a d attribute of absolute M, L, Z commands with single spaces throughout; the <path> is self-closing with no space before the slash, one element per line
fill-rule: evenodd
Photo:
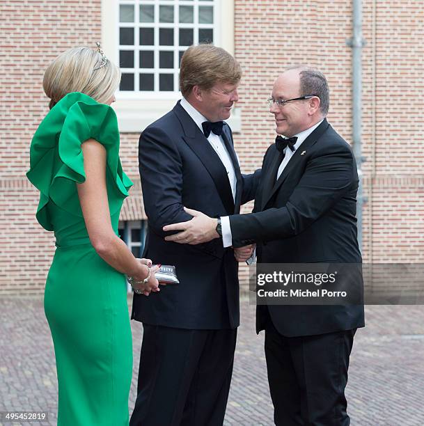
<path fill-rule="evenodd" d="M 183 98 L 149 125 L 139 142 L 148 234 L 143 257 L 175 265 L 179 285 L 134 294 L 143 322 L 138 395 L 130 425 L 221 425 L 237 326 L 238 264 L 219 239 L 166 242 L 163 226 L 188 221 L 184 205 L 212 217 L 237 214 L 253 199 L 260 171 L 242 175 L 230 127 L 241 69 L 213 45 L 192 46 L 180 65 Z M 184 243 L 184 242 L 182 242 Z"/>

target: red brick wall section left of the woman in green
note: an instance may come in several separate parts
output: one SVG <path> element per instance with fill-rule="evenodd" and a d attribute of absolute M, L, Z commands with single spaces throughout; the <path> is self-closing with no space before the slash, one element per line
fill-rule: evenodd
<path fill-rule="evenodd" d="M 100 0 L 2 0 L 0 17 L 0 294 L 42 292 L 54 237 L 36 222 L 38 191 L 24 176 L 48 111 L 42 75 L 63 50 L 100 40 Z"/>

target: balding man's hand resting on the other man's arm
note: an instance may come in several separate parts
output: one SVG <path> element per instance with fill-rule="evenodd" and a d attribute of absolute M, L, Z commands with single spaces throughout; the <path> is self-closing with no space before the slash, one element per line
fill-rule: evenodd
<path fill-rule="evenodd" d="M 180 230 L 174 235 L 165 237 L 166 241 L 178 242 L 180 244 L 201 244 L 209 242 L 214 238 L 219 238 L 217 232 L 218 219 L 206 216 L 197 210 L 187 209 L 184 211 L 193 216 L 193 219 L 187 222 L 172 223 L 164 226 L 164 231 Z"/>

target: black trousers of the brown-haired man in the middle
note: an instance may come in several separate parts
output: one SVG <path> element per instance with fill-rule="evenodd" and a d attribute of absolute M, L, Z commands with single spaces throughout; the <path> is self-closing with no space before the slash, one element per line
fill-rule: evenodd
<path fill-rule="evenodd" d="M 218 426 L 226 411 L 237 329 L 143 324 L 131 426 Z"/>

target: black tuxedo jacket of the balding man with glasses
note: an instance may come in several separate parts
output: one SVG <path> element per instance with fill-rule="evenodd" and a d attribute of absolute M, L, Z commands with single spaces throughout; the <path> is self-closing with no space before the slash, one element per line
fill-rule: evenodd
<path fill-rule="evenodd" d="M 350 145 L 327 120 L 294 152 L 278 180 L 278 151 L 267 150 L 253 213 L 230 216 L 233 245 L 257 242 L 258 262 L 361 264 L 356 228 L 358 174 Z M 350 277 L 363 294 L 361 274 Z M 311 336 L 364 325 L 363 305 L 258 306 L 283 336 Z"/>

